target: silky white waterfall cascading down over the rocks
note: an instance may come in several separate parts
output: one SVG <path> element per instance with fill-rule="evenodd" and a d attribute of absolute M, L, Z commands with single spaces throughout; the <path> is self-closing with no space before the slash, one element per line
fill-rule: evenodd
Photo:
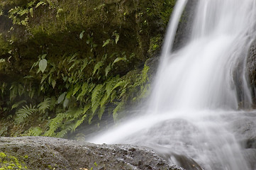
<path fill-rule="evenodd" d="M 196 3 L 187 45 L 173 51 L 187 4 L 187 0 L 177 1 L 148 111 L 89 142 L 152 147 L 181 166 L 187 157 L 187 162 L 195 161 L 203 169 L 251 169 L 226 120 L 240 114 L 240 106 L 252 103 L 245 62 L 256 35 L 256 0 Z"/>

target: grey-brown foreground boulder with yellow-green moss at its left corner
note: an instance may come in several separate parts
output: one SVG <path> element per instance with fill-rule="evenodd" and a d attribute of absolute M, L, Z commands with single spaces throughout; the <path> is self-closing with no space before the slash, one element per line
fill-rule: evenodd
<path fill-rule="evenodd" d="M 0 169 L 172 169 L 155 152 L 132 145 L 94 145 L 52 137 L 1 137 Z"/>

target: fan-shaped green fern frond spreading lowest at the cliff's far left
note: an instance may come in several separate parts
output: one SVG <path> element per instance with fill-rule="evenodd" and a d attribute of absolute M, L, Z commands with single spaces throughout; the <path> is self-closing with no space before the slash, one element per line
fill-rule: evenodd
<path fill-rule="evenodd" d="M 26 118 L 28 118 L 29 115 L 32 115 L 33 113 L 35 113 L 36 111 L 38 111 L 38 109 L 35 108 L 35 106 L 23 106 L 22 108 L 18 109 L 18 111 L 16 112 L 16 118 L 15 118 L 15 122 L 17 124 L 21 124 L 24 122 L 24 120 Z"/>

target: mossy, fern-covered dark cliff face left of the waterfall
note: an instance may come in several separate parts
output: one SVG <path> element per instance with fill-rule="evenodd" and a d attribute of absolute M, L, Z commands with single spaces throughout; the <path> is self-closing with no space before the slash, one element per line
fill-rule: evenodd
<path fill-rule="evenodd" d="M 102 115 L 118 119 L 147 95 L 146 61 L 174 3 L 1 1 L 0 135 L 63 137 Z"/>

